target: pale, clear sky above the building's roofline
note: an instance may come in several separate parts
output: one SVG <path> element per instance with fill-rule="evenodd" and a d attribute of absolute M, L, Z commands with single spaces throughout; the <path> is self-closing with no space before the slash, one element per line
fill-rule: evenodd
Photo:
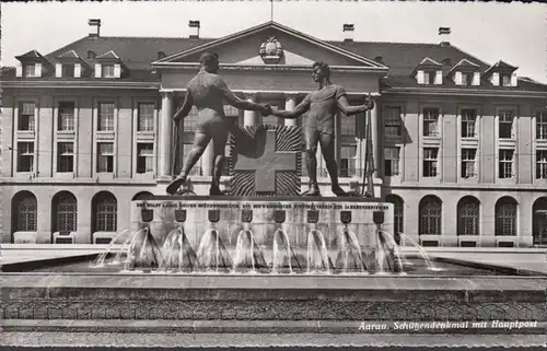
<path fill-rule="evenodd" d="M 188 21 L 201 22 L 200 36 L 221 37 L 269 21 L 268 0 L 161 2 L 3 2 L 1 60 L 32 49 L 46 55 L 89 34 L 101 19 L 103 36 L 187 37 Z M 488 62 L 519 67 L 521 77 L 547 83 L 547 5 L 498 2 L 274 1 L 274 20 L 326 40 L 342 38 L 354 24 L 362 42 L 450 42 Z"/>

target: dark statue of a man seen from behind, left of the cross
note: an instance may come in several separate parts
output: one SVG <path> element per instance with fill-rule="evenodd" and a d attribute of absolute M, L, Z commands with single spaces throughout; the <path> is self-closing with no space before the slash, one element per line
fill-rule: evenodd
<path fill-rule="evenodd" d="M 178 124 L 182 118 L 188 116 L 194 105 L 198 108 L 199 119 L 194 147 L 186 157 L 181 175 L 167 186 L 167 194 L 171 195 L 174 195 L 186 182 L 188 173 L 201 157 L 210 141 L 212 141 L 214 157 L 209 194 L 222 195 L 220 177 L 224 164 L 224 148 L 228 134 L 232 129 L 231 121 L 224 115 L 224 102 L 240 109 L 259 110 L 263 115 L 271 113 L 269 105 L 247 102 L 232 93 L 224 80 L 217 74 L 219 71 L 219 56 L 217 54 L 203 52 L 199 62 L 201 69 L 188 82 L 184 103 L 173 117 Z"/>

